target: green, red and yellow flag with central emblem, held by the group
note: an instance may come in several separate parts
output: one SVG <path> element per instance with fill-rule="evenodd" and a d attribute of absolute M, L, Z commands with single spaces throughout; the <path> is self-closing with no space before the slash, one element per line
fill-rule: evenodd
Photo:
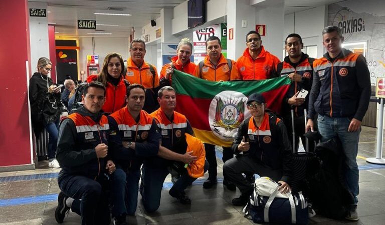
<path fill-rule="evenodd" d="M 247 97 L 255 92 L 261 93 L 267 107 L 279 112 L 290 82 L 286 76 L 213 82 L 174 70 L 175 110 L 187 117 L 195 135 L 203 142 L 231 146 L 239 124 L 250 116 L 246 107 Z"/>

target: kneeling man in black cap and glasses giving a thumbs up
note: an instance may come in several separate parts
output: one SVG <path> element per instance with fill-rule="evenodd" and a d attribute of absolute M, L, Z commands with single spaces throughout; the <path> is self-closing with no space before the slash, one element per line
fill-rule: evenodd
<path fill-rule="evenodd" d="M 254 190 L 242 173 L 257 173 L 269 176 L 281 184 L 282 193 L 290 191 L 291 146 L 283 121 L 274 113 L 265 112 L 266 101 L 259 93 L 247 99 L 251 114 L 238 128 L 232 149 L 236 157 L 223 165 L 223 174 L 241 191 L 233 199 L 233 205 L 245 205 Z"/>

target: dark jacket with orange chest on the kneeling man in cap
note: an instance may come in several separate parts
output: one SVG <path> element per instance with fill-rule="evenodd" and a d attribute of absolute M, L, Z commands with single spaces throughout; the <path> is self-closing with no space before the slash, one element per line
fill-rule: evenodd
<path fill-rule="evenodd" d="M 262 163 L 271 169 L 282 169 L 280 180 L 287 182 L 291 173 L 291 145 L 283 121 L 274 113 L 267 113 L 262 123 L 257 127 L 253 116 L 246 118 L 238 127 L 232 149 L 239 154 L 238 145 L 242 138 L 250 143 L 250 149 L 243 152 L 256 162 Z"/>

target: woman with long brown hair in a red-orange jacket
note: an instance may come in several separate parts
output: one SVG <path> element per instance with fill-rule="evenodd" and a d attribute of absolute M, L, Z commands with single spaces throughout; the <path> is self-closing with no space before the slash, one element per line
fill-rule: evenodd
<path fill-rule="evenodd" d="M 97 80 L 106 87 L 106 101 L 102 110 L 111 114 L 126 105 L 126 86 L 123 77 L 124 61 L 119 53 L 109 53 L 103 61 L 102 71 L 98 75 L 88 76 L 87 82 Z"/>

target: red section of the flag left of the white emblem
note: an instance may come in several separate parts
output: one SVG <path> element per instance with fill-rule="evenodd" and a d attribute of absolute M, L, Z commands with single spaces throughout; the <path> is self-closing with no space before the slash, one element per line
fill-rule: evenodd
<path fill-rule="evenodd" d="M 211 131 L 209 124 L 209 107 L 212 99 L 192 98 L 176 94 L 175 111 L 186 116 L 191 126 Z"/>

